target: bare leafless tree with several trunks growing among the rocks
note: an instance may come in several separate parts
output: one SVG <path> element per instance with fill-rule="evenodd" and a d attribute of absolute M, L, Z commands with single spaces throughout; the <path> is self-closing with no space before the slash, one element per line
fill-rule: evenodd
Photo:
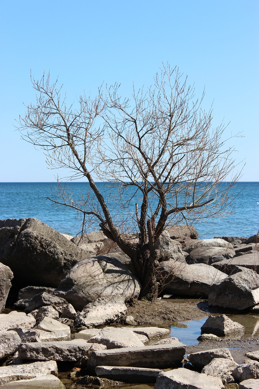
<path fill-rule="evenodd" d="M 154 86 L 131 99 L 119 85 L 91 100 L 80 96 L 78 108 L 66 105 L 57 81 L 32 78 L 35 105 L 19 118 L 23 138 L 44 149 L 51 168 L 66 167 L 71 178 L 84 176 L 90 191 L 73 199 L 59 184 L 56 204 L 98 220 L 103 233 L 124 251 L 142 284 L 142 296 L 158 295 L 158 239 L 167 225 L 221 217 L 233 207 L 233 147 L 225 148 L 224 124 L 212 127 L 212 108 L 201 108 L 178 68 L 161 69 Z M 117 216 L 95 179 L 110 182 Z M 134 205 L 134 211 L 133 211 Z M 128 216 L 126 217 L 126 210 Z M 128 230 L 125 228 L 128 226 Z M 125 232 L 131 231 L 135 239 Z M 83 232 L 83 230 L 82 230 Z"/>

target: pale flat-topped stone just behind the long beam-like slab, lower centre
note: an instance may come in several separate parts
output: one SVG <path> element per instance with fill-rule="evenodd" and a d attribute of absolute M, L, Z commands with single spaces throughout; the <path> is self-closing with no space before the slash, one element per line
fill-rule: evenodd
<path fill-rule="evenodd" d="M 144 346 L 137 334 L 129 328 L 105 327 L 87 342 L 104 344 L 107 349 Z"/>

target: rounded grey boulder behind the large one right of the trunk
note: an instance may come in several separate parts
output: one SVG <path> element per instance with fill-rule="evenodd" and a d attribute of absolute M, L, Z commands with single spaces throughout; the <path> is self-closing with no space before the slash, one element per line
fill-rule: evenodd
<path fill-rule="evenodd" d="M 189 265 L 192 263 L 206 263 L 207 265 L 211 265 L 214 262 L 231 259 L 234 255 L 234 250 L 224 247 L 198 247 L 190 252 L 186 258 L 186 262 Z"/>

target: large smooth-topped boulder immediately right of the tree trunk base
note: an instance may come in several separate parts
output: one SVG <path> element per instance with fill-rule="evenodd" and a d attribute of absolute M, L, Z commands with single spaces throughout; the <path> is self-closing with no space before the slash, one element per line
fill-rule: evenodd
<path fill-rule="evenodd" d="M 159 264 L 159 271 L 165 280 L 166 291 L 186 296 L 208 296 L 210 287 L 226 274 L 204 263 L 187 265 L 179 261 L 165 261 Z"/>

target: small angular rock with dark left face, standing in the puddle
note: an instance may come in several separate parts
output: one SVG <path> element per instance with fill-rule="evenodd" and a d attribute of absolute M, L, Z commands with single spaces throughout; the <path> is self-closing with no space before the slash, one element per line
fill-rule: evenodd
<path fill-rule="evenodd" d="M 243 335 L 245 327 L 229 319 L 226 315 L 209 316 L 201 326 L 201 333 L 218 336 Z"/>

